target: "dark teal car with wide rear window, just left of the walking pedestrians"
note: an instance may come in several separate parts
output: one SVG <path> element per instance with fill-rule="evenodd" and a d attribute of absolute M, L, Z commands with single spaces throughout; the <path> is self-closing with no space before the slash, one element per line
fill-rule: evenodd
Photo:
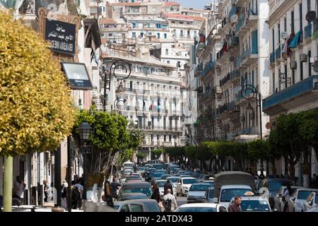
<path fill-rule="evenodd" d="M 143 193 L 146 194 L 148 197 L 151 197 L 151 195 L 153 194 L 153 189 L 151 187 L 151 184 L 148 182 L 131 181 L 129 183 L 125 183 L 119 189 L 119 195 L 125 193 Z"/>

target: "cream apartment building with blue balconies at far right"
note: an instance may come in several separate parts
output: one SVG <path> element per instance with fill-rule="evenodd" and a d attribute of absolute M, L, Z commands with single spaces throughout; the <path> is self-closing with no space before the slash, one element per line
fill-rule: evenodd
<path fill-rule="evenodd" d="M 280 114 L 309 111 L 318 107 L 317 1 L 269 1 L 269 93 L 263 111 L 275 126 Z M 306 18 L 308 20 L 306 20 Z M 317 174 L 317 158 L 312 151 L 312 174 Z M 277 162 L 279 173 L 285 161 Z M 296 176 L 300 173 L 296 169 Z M 305 182 L 304 182 L 305 183 Z"/>

